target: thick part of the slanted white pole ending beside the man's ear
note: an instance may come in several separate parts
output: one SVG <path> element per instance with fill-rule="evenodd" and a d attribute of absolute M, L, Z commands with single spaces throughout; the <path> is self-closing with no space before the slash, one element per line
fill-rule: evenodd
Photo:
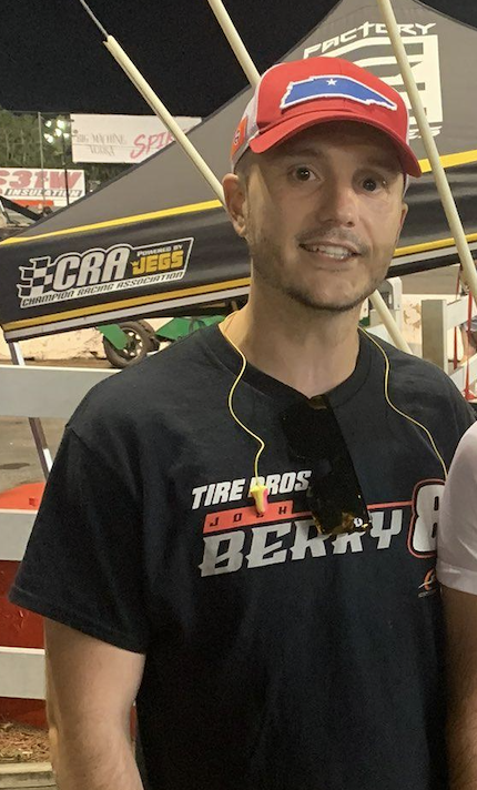
<path fill-rule="evenodd" d="M 112 36 L 108 36 L 106 40 L 104 41 L 104 45 L 106 47 L 109 52 L 111 52 L 114 60 L 120 64 L 121 69 L 128 74 L 129 79 L 136 87 L 143 99 L 145 99 L 151 110 L 153 110 L 153 112 L 159 115 L 161 121 L 168 126 L 171 134 L 175 138 L 177 143 L 180 143 L 180 145 L 183 148 L 187 156 L 200 170 L 205 181 L 209 183 L 212 191 L 216 194 L 221 203 L 225 205 L 224 192 L 221 182 L 214 175 L 206 162 L 202 159 L 201 154 L 191 143 L 187 135 L 184 134 L 176 120 L 171 115 L 166 107 L 154 93 L 151 85 L 144 80 L 143 75 L 135 68 L 132 60 L 128 58 L 121 44 L 119 44 Z"/>

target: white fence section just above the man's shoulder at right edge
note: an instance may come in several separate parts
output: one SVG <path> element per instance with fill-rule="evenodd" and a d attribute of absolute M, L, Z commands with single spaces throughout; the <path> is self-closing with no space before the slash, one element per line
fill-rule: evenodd
<path fill-rule="evenodd" d="M 476 315 L 477 307 L 474 304 L 473 316 Z M 469 384 L 477 381 L 477 354 L 454 371 L 449 369 L 449 359 L 454 356 L 454 350 L 449 348 L 449 331 L 461 326 L 467 320 L 467 296 L 451 302 L 446 298 L 429 298 L 422 302 L 423 357 L 445 371 L 460 392 L 466 387 L 467 375 Z"/>

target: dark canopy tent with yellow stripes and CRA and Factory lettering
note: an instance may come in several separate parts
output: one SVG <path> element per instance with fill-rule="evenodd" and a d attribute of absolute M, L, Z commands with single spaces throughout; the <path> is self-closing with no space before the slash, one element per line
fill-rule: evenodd
<path fill-rule="evenodd" d="M 470 249 L 477 256 L 477 30 L 417 0 L 393 2 Z M 403 90 L 386 28 L 372 0 L 342 0 L 283 60 L 325 54 L 358 62 Z M 190 139 L 213 172 L 229 170 L 246 90 Z M 412 119 L 412 144 L 425 151 Z M 456 262 L 457 251 L 428 165 L 392 273 Z M 0 244 L 0 324 L 7 340 L 140 315 L 193 313 L 245 295 L 248 261 L 219 201 L 179 145 Z"/>

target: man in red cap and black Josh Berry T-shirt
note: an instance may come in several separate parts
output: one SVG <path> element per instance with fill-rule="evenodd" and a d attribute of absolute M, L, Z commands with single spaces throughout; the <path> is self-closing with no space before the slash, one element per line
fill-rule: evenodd
<path fill-rule="evenodd" d="M 448 787 L 435 519 L 473 416 L 358 332 L 407 121 L 352 63 L 266 72 L 223 182 L 248 304 L 70 421 L 11 596 L 48 618 L 61 790 L 141 788 L 134 699 L 151 790 Z"/>

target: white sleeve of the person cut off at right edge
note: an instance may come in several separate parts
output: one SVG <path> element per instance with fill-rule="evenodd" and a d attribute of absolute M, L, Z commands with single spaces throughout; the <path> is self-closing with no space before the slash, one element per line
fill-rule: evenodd
<path fill-rule="evenodd" d="M 444 487 L 437 578 L 477 595 L 477 423 L 460 439 Z"/>

